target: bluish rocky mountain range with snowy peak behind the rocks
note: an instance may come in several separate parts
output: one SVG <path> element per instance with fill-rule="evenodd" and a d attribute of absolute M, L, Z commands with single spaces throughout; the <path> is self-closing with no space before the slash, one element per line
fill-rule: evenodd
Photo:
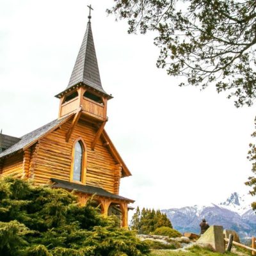
<path fill-rule="evenodd" d="M 225 229 L 236 230 L 241 239 L 256 236 L 256 214 L 250 203 L 252 196 L 240 196 L 234 192 L 219 204 L 194 205 L 182 208 L 165 209 L 175 229 L 180 232 L 199 234 L 199 223 L 205 218 L 209 225 L 221 225 Z"/>

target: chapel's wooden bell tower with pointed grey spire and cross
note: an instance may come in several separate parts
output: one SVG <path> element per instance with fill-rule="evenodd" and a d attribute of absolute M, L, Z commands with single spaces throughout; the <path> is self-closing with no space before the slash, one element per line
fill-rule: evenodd
<path fill-rule="evenodd" d="M 93 43 L 91 10 L 86 32 L 78 52 L 67 88 L 56 95 L 60 99 L 59 118 L 79 113 L 95 122 L 106 122 L 107 102 L 113 97 L 102 88 L 99 67 Z"/>

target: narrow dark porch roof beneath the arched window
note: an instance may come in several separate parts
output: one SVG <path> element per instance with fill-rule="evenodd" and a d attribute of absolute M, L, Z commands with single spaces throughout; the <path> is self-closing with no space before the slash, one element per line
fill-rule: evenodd
<path fill-rule="evenodd" d="M 59 179 L 54 179 L 54 178 L 52 178 L 51 180 L 54 182 L 54 184 L 52 185 L 53 188 L 64 188 L 64 189 L 68 189 L 68 190 L 76 190 L 76 191 L 83 192 L 83 193 L 86 193 L 89 195 L 96 194 L 99 196 L 105 196 L 105 197 L 109 197 L 109 198 L 129 201 L 132 203 L 134 202 L 134 200 L 125 198 L 123 196 L 118 196 L 118 195 L 112 194 L 103 188 L 94 187 L 94 186 L 90 186 L 90 185 L 77 184 L 77 183 L 73 183 L 73 182 L 68 182 L 67 180 L 59 180 Z"/>

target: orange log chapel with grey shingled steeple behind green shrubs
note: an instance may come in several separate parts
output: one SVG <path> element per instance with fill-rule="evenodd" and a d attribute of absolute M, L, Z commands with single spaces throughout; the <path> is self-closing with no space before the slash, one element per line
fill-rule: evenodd
<path fill-rule="evenodd" d="M 102 88 L 88 18 L 68 86 L 56 95 L 58 118 L 21 138 L 0 134 L 0 175 L 75 189 L 81 205 L 94 195 L 102 214 L 118 212 L 127 227 L 134 200 L 120 196 L 119 186 L 131 173 L 104 130 L 112 97 Z"/>

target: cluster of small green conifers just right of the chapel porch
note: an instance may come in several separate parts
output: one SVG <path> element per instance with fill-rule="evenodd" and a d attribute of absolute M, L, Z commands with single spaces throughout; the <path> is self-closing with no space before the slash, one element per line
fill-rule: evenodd
<path fill-rule="evenodd" d="M 140 212 L 139 207 L 132 216 L 131 224 L 132 230 L 136 230 L 139 234 L 149 234 L 158 227 L 172 228 L 172 223 L 165 213 L 145 208 Z"/>

